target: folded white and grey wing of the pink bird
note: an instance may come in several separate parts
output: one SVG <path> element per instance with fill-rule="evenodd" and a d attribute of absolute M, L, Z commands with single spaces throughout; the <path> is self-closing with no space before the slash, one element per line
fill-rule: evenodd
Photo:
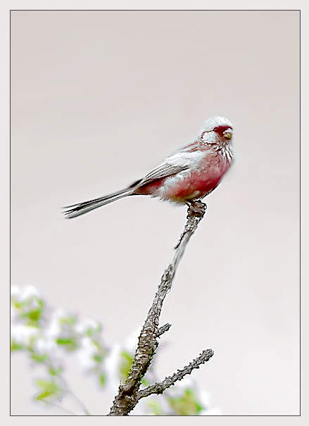
<path fill-rule="evenodd" d="M 139 182 L 139 186 L 149 183 L 153 180 L 162 179 L 175 175 L 189 168 L 193 168 L 203 157 L 201 151 L 179 152 L 166 158 L 166 160 L 149 172 L 144 179 Z"/>

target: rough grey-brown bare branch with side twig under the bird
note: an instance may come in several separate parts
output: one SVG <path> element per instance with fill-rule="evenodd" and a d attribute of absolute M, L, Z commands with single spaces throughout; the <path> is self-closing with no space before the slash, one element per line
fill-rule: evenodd
<path fill-rule="evenodd" d="M 168 268 L 161 277 L 158 292 L 156 293 L 146 321 L 144 322 L 144 326 L 141 329 L 141 334 L 139 335 L 137 351 L 127 380 L 125 380 L 124 384 L 120 384 L 118 395 L 115 396 L 113 406 L 108 415 L 127 415 L 137 405 L 139 399 L 147 396 L 145 391 L 149 388 L 139 391 L 141 379 L 146 374 L 151 363 L 151 359 L 158 347 L 158 337 L 170 328 L 170 325 L 164 325 L 160 328 L 158 327 L 163 301 L 170 291 L 172 280 L 175 277 L 177 265 L 184 253 L 184 249 L 187 246 L 191 235 L 194 234 L 194 231 L 198 227 L 198 223 L 200 223 L 205 212 L 206 204 L 201 203 L 201 201 L 194 201 L 190 203 L 188 208 L 187 224 L 185 225 L 184 231 L 182 232 L 179 242 L 175 247 L 175 255 L 172 263 L 168 265 Z M 162 389 L 162 391 L 159 391 L 158 393 L 162 393 L 163 390 L 169 387 L 176 380 L 181 380 L 184 375 L 189 374 L 194 368 L 198 368 L 198 365 L 201 363 L 208 361 L 211 356 L 213 356 L 212 349 L 203 351 L 196 360 L 192 361 L 183 370 L 178 370 L 178 372 L 174 375 L 166 377 L 161 384 L 156 384 L 158 389 Z M 150 388 L 154 389 L 153 386 L 154 385 L 151 385 Z M 149 394 L 151 393 L 153 393 L 153 391 Z"/>

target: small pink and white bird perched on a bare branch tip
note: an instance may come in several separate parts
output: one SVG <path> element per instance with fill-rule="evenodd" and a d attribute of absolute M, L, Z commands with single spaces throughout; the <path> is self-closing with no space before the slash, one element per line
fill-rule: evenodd
<path fill-rule="evenodd" d="M 150 195 L 190 205 L 210 194 L 234 162 L 233 126 L 227 118 L 206 120 L 198 137 L 165 158 L 145 177 L 113 194 L 64 207 L 65 218 L 76 218 L 132 195 Z"/>

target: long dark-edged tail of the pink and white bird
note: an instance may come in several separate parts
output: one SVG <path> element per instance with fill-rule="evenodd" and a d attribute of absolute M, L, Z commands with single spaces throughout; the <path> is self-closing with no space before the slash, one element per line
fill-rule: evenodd
<path fill-rule="evenodd" d="M 105 206 L 105 204 L 112 203 L 113 201 L 116 201 L 120 198 L 131 195 L 132 192 L 132 188 L 126 188 L 122 189 L 122 191 L 102 196 L 98 199 L 84 201 L 83 203 L 78 204 L 72 204 L 72 206 L 63 207 L 65 209 L 63 214 L 67 219 L 77 218 L 77 216 L 84 215 L 84 213 L 88 213 L 89 211 L 92 211 L 95 208 Z"/>

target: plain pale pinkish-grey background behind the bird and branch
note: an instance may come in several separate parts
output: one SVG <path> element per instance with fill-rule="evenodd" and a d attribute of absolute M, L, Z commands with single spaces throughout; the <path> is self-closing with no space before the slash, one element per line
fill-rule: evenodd
<path fill-rule="evenodd" d="M 223 415 L 298 415 L 298 11 L 12 11 L 11 284 L 100 320 L 107 345 L 137 332 L 186 208 L 61 207 L 134 182 L 213 115 L 232 121 L 236 161 L 163 306 L 157 371 L 213 348 L 192 378 Z M 52 414 L 23 354 L 11 370 L 11 414 Z M 105 414 L 92 385 L 75 393 Z"/>

